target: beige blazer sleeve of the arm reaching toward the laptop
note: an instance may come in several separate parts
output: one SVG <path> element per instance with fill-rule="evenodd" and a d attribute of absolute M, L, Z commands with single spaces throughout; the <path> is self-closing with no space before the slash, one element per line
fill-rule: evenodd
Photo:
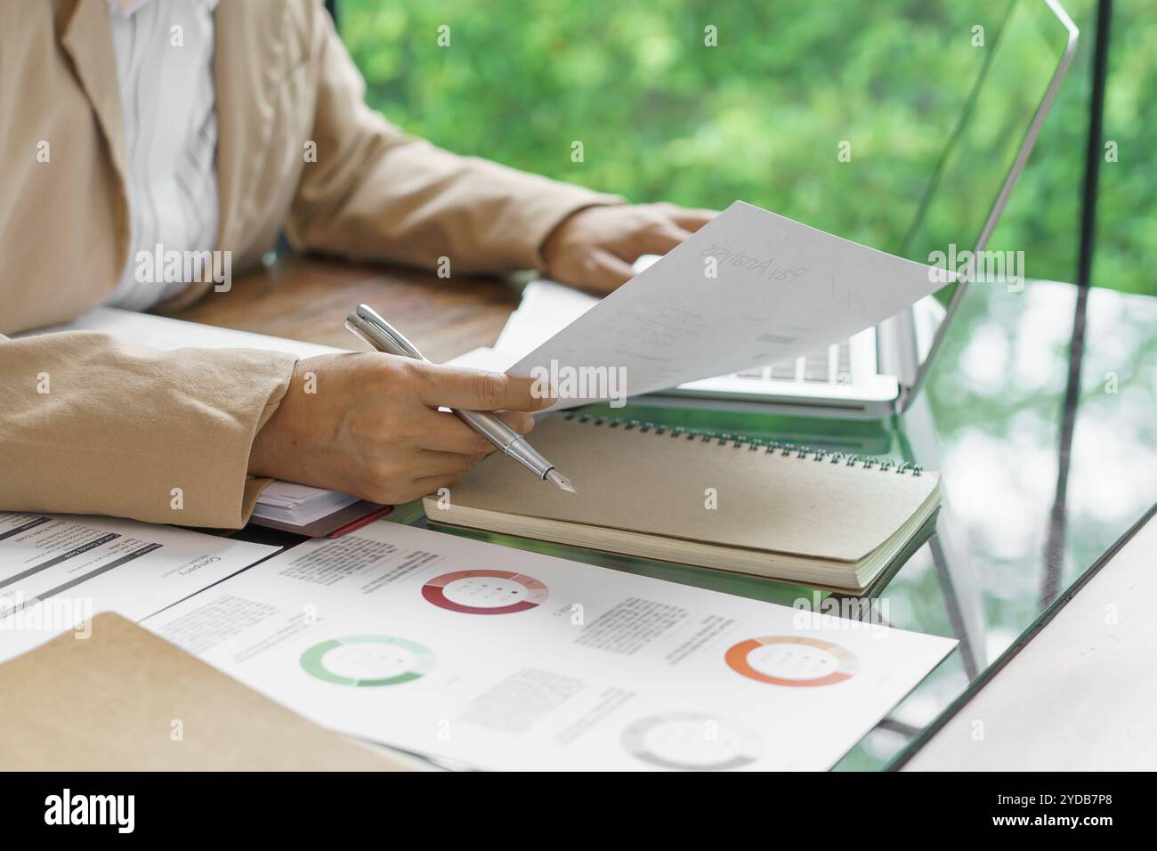
<path fill-rule="evenodd" d="M 317 105 L 288 235 L 299 248 L 456 272 L 543 266 L 567 215 L 616 196 L 467 156 L 398 131 L 364 103 L 364 81 L 316 3 Z"/>

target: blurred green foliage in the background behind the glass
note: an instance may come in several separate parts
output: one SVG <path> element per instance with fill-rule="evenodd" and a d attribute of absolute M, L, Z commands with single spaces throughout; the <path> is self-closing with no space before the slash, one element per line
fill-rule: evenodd
<path fill-rule="evenodd" d="M 370 104 L 407 132 L 632 200 L 742 198 L 898 251 L 983 61 L 972 27 L 998 31 L 1008 6 L 341 0 L 338 20 Z M 1073 280 L 1093 2 L 1066 6 L 1081 51 L 989 247 L 1024 250 L 1031 277 Z M 1152 294 L 1155 51 L 1157 0 L 1119 2 L 1105 119 L 1119 159 L 1101 166 L 1093 283 Z M 852 162 L 837 159 L 842 140 Z"/>

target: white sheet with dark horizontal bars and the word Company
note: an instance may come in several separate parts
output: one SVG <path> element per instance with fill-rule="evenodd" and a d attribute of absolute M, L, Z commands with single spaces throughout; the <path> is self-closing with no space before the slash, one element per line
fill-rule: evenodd
<path fill-rule="evenodd" d="M 133 520 L 0 512 L 0 660 L 101 611 L 139 621 L 278 549 Z"/>

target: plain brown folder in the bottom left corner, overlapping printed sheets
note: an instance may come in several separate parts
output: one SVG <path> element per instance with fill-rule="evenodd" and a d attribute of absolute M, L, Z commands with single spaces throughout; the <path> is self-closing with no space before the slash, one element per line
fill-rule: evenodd
<path fill-rule="evenodd" d="M 6 770 L 391 771 L 411 765 L 324 729 L 119 615 L 0 665 Z"/>

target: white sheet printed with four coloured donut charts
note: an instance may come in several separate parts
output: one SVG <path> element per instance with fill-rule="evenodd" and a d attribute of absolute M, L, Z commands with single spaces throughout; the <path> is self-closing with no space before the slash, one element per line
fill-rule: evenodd
<path fill-rule="evenodd" d="M 827 769 L 956 644 L 383 521 L 143 625 L 322 725 L 484 769 Z"/>

